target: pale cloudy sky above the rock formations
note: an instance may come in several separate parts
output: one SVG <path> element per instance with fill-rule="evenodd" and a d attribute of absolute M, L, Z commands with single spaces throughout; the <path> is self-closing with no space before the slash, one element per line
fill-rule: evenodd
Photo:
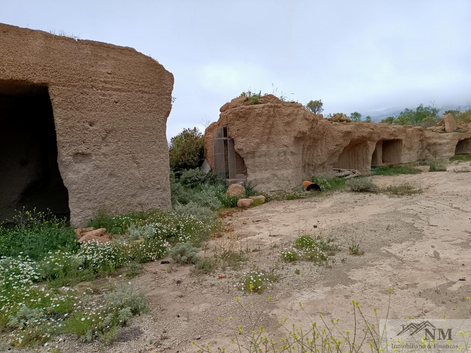
<path fill-rule="evenodd" d="M 0 22 L 132 47 L 175 77 L 167 138 L 249 88 L 324 113 L 471 104 L 471 1 L 0 0 Z"/>

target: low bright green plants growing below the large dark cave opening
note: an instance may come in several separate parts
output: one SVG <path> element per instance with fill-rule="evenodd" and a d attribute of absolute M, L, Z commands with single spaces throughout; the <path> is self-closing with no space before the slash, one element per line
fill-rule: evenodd
<path fill-rule="evenodd" d="M 78 248 L 73 228 L 49 212 L 18 211 L 9 226 L 0 225 L 0 256 L 41 259 L 56 249 Z"/>

